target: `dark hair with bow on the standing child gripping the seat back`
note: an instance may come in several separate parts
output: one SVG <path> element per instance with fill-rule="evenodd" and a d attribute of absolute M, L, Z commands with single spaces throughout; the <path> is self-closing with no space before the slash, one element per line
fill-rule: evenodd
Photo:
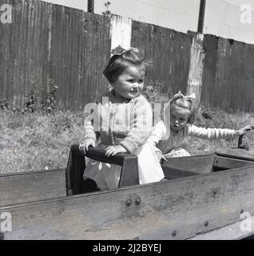
<path fill-rule="evenodd" d="M 121 46 L 117 46 L 117 48 L 111 50 L 111 53 L 113 56 L 103 71 L 110 83 L 116 82 L 117 78 L 128 66 L 138 66 L 144 71 L 149 66 L 149 62 L 145 60 L 143 52 L 137 48 L 132 47 L 129 50 L 125 50 Z"/>

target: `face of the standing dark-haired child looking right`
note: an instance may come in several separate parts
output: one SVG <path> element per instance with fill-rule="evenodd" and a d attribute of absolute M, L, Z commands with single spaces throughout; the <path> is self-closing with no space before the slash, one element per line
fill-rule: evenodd
<path fill-rule="evenodd" d="M 117 96 L 123 98 L 136 98 L 144 88 L 145 70 L 137 66 L 129 66 L 113 83 Z"/>

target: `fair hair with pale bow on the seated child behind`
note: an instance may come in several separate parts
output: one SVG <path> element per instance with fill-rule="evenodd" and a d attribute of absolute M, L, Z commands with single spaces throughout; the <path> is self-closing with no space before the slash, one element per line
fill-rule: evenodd
<path fill-rule="evenodd" d="M 173 105 L 190 111 L 187 122 L 192 125 L 192 123 L 195 121 L 195 112 L 196 112 L 192 99 L 189 98 L 188 96 L 184 96 L 180 92 L 179 94 L 176 94 L 175 96 L 173 96 L 173 99 L 170 101 L 170 110 L 172 110 Z"/>

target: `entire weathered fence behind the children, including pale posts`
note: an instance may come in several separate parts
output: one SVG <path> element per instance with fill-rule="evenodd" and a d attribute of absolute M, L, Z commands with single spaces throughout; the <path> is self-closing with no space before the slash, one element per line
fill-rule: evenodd
<path fill-rule="evenodd" d="M 108 82 L 109 50 L 140 47 L 153 61 L 146 82 L 162 93 L 192 91 L 206 106 L 253 110 L 254 46 L 211 35 L 183 34 L 129 18 L 105 17 L 39 0 L 9 3 L 12 23 L 0 23 L 0 99 L 26 106 L 58 86 L 61 109 L 81 110 Z"/>

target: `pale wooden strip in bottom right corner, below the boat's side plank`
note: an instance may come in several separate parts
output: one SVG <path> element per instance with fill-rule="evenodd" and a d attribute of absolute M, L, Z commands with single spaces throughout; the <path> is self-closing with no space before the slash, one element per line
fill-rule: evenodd
<path fill-rule="evenodd" d="M 253 216 L 250 221 L 254 224 Z M 241 240 L 252 236 L 254 230 L 240 230 L 241 223 L 236 222 L 208 233 L 198 234 L 193 238 L 189 238 L 189 240 Z"/>

